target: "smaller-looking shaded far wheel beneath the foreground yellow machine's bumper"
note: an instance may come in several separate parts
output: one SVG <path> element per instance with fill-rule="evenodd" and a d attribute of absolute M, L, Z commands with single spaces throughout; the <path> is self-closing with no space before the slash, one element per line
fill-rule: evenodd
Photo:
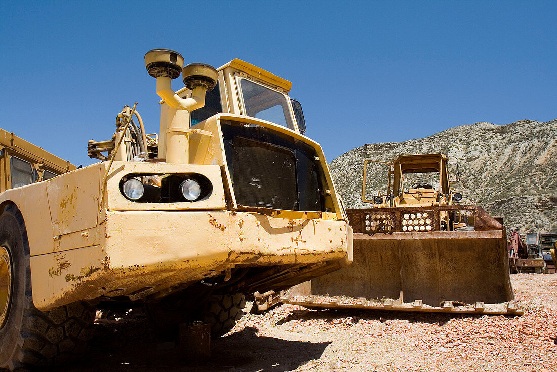
<path fill-rule="evenodd" d="M 220 294 L 209 297 L 202 320 L 211 325 L 211 336 L 227 334 L 236 326 L 236 321 L 243 315 L 246 297 L 242 293 Z"/>

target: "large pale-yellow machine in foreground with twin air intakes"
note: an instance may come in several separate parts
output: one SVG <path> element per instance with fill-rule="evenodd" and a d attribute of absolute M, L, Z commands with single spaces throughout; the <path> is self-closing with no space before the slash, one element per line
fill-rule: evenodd
<path fill-rule="evenodd" d="M 1 132 L 0 368 L 82 351 L 95 308 L 145 305 L 161 327 L 202 320 L 223 335 L 244 294 L 351 262 L 352 230 L 291 83 L 240 60 L 183 64 L 172 50 L 145 55 L 159 134 L 125 107 L 112 139 L 89 142 L 93 165 Z"/>

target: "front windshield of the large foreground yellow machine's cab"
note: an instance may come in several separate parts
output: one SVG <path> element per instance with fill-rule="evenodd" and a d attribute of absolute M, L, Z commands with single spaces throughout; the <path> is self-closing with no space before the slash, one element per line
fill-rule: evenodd
<path fill-rule="evenodd" d="M 243 78 L 240 88 L 246 115 L 294 130 L 289 102 L 284 94 Z"/>

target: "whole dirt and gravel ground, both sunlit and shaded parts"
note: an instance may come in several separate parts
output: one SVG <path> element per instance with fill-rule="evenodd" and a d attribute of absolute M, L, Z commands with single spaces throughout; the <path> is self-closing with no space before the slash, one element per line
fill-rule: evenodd
<path fill-rule="evenodd" d="M 316 311 L 245 315 L 187 366 L 143 317 L 99 323 L 86 356 L 61 371 L 557 371 L 557 274 L 513 274 L 520 317 Z M 249 309 L 250 304 L 246 307 Z"/>

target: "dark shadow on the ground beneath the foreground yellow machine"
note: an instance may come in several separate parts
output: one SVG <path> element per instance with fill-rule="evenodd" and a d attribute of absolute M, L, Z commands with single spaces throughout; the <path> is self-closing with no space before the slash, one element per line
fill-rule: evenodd
<path fill-rule="evenodd" d="M 292 371 L 319 359 L 330 342 L 289 341 L 258 336 L 246 327 L 212 344 L 208 363 L 194 366 L 183 359 L 180 346 L 165 342 L 147 320 L 96 325 L 86 354 L 56 371 Z"/>

